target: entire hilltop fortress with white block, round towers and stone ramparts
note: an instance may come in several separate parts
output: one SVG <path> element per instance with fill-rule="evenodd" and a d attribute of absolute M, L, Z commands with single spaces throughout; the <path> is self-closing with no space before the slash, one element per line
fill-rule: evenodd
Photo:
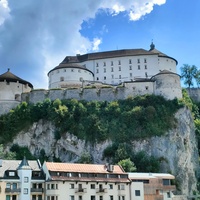
<path fill-rule="evenodd" d="M 150 50 L 124 49 L 66 56 L 49 71 L 49 90 L 34 90 L 31 83 L 8 70 L 0 75 L 0 109 L 6 112 L 21 101 L 36 103 L 45 98 L 112 101 L 144 94 L 181 98 L 177 63 L 158 51 L 153 43 Z"/>

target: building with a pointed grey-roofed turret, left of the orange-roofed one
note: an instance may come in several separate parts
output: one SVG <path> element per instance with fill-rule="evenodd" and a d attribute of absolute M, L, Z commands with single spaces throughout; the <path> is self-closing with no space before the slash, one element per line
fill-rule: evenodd
<path fill-rule="evenodd" d="M 39 161 L 0 160 L 0 199 L 44 200 L 43 188 Z"/>

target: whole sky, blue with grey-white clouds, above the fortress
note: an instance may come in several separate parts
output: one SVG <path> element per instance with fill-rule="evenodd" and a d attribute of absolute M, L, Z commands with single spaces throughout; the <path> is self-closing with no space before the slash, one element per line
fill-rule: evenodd
<path fill-rule="evenodd" d="M 67 55 L 156 49 L 200 69 L 199 0 L 0 0 L 0 74 L 47 89 Z"/>

